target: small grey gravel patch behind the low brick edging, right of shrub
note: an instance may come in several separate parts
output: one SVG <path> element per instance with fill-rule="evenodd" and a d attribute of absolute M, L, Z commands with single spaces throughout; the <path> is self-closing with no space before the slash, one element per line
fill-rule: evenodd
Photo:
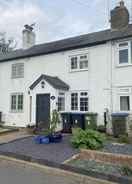
<path fill-rule="evenodd" d="M 103 151 L 132 156 L 132 144 L 112 144 L 106 143 Z"/>

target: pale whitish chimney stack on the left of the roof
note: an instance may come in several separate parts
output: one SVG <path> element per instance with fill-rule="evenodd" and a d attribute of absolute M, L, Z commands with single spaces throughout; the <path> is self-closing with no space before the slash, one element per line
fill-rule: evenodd
<path fill-rule="evenodd" d="M 36 35 L 33 31 L 33 26 L 32 25 L 25 25 L 24 30 L 22 32 L 23 34 L 23 49 L 28 49 L 32 46 L 35 45 L 35 40 L 36 40 Z"/>

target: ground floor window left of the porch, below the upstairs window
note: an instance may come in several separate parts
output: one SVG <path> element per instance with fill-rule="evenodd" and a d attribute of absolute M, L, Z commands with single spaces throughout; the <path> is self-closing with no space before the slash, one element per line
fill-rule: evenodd
<path fill-rule="evenodd" d="M 23 111 L 23 94 L 14 93 L 11 94 L 11 111 Z"/>

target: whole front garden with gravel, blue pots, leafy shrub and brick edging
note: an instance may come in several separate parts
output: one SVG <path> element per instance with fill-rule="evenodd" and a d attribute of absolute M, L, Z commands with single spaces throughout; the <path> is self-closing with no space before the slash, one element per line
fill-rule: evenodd
<path fill-rule="evenodd" d="M 50 128 L 30 128 L 32 137 L 0 146 L 0 151 L 59 163 L 101 176 L 127 176 L 132 182 L 132 139 L 107 135 L 105 127 L 72 128 L 72 135 L 57 132 L 59 114 L 53 111 Z M 75 169 L 75 170 L 76 170 Z M 113 177 L 113 178 L 114 178 Z"/>

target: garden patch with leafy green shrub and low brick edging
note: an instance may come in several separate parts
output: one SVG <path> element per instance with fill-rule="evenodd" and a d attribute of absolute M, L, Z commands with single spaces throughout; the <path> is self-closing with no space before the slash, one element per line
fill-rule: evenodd
<path fill-rule="evenodd" d="M 73 129 L 71 144 L 81 153 L 67 164 L 86 171 L 132 178 L 132 140 L 99 131 Z M 86 150 L 86 151 L 85 151 Z"/>

